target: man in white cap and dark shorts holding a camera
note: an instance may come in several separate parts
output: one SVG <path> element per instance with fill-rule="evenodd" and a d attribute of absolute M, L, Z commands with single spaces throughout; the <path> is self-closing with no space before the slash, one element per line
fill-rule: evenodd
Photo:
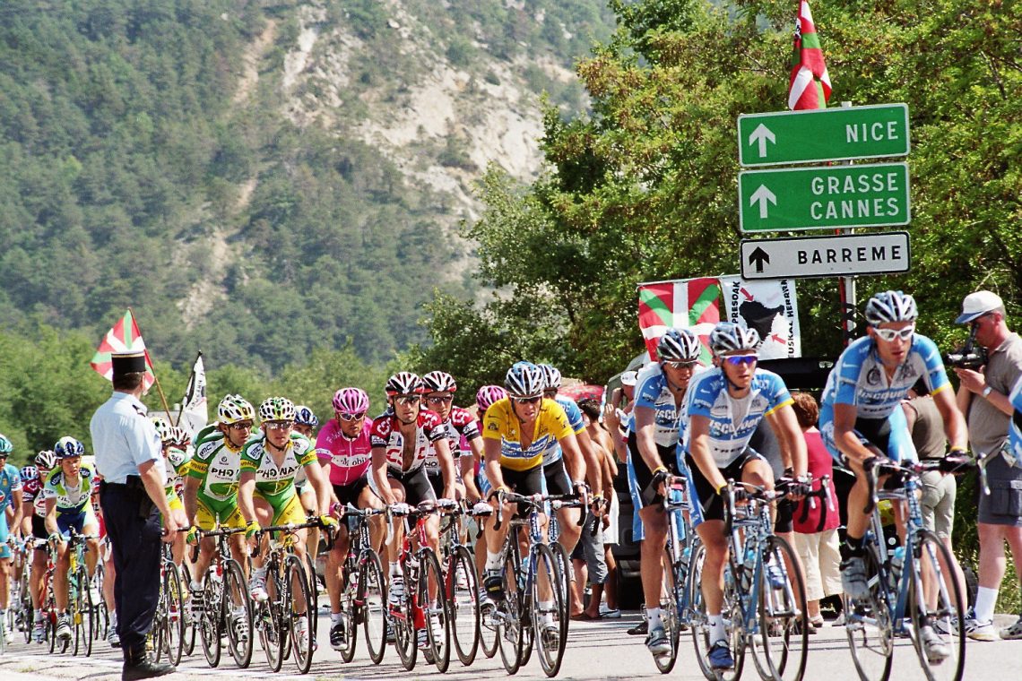
<path fill-rule="evenodd" d="M 1014 555 L 1022 555 L 1022 466 L 1006 451 L 1008 426 L 1014 412 L 1008 394 L 1022 375 L 1022 339 L 1008 329 L 1005 304 L 990 291 L 965 297 L 958 324 L 971 325 L 970 338 L 987 351 L 978 371 L 948 357 L 962 382 L 959 408 L 968 415 L 973 451 L 989 454 L 986 473 L 990 494 L 979 495 L 979 590 L 972 618 L 966 622 L 969 638 L 992 641 L 993 609 L 1005 576 L 1005 540 Z M 969 354 L 968 352 L 963 354 Z M 968 366 L 970 357 L 963 357 Z M 1001 631 L 1002 638 L 1022 638 L 1022 618 Z"/>

